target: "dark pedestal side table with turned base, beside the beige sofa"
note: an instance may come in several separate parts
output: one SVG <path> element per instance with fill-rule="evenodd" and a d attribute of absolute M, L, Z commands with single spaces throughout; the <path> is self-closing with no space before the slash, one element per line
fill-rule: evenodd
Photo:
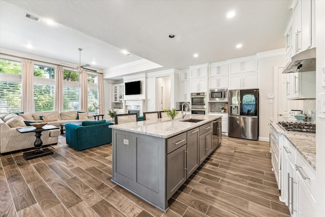
<path fill-rule="evenodd" d="M 29 151 L 29 152 L 24 152 L 22 156 L 24 157 L 25 160 L 30 160 L 34 158 L 39 158 L 43 157 L 49 154 L 53 154 L 53 151 L 51 151 L 48 148 L 42 149 L 43 141 L 41 139 L 42 132 L 47 131 L 47 130 L 56 130 L 59 129 L 58 127 L 55 127 L 53 125 L 45 125 L 42 128 L 36 128 L 36 127 L 28 127 L 28 128 L 17 128 L 17 131 L 19 133 L 30 133 L 34 132 L 36 136 L 36 140 L 34 142 L 35 150 L 34 151 Z"/>

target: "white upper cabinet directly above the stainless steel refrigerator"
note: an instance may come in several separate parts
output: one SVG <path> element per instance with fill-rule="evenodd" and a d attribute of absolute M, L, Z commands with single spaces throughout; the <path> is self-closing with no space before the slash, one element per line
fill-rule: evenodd
<path fill-rule="evenodd" d="M 229 74 L 257 71 L 257 57 L 229 61 Z"/>

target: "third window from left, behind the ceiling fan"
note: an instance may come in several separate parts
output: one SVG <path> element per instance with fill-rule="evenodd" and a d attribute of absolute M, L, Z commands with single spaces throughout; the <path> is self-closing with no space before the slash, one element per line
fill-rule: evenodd
<path fill-rule="evenodd" d="M 63 110 L 80 110 L 79 73 L 63 71 Z"/>

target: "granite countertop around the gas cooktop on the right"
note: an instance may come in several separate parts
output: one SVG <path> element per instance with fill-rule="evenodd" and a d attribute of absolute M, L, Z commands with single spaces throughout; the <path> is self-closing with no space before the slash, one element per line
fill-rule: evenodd
<path fill-rule="evenodd" d="M 287 133 L 277 124 L 278 121 L 287 121 L 287 119 L 270 118 L 270 120 L 274 129 L 279 134 L 283 134 L 309 165 L 316 170 L 316 134 Z"/>

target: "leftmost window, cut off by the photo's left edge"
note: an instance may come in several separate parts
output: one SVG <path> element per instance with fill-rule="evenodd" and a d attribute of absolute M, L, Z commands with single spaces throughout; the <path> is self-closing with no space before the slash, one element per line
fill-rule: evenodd
<path fill-rule="evenodd" d="M 21 63 L 0 59 L 0 112 L 20 111 Z"/>

